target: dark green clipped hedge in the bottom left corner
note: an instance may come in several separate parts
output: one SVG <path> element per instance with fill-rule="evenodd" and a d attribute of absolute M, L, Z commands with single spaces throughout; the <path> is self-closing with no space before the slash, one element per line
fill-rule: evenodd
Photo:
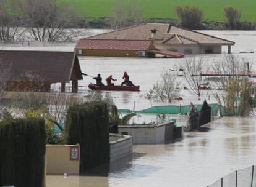
<path fill-rule="evenodd" d="M 42 186 L 45 140 L 43 119 L 0 122 L 0 186 Z"/>

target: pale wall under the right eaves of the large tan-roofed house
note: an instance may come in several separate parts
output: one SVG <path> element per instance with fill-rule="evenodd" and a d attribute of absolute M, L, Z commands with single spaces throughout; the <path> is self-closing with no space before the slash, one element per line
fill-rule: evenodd
<path fill-rule="evenodd" d="M 172 50 L 182 54 L 205 54 L 205 51 L 212 50 L 213 54 L 221 54 L 221 45 L 205 45 L 198 44 L 154 44 L 157 49 Z"/>

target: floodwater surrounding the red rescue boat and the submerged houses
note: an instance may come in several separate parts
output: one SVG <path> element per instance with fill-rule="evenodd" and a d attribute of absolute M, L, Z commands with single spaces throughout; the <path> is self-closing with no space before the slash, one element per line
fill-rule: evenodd
<path fill-rule="evenodd" d="M 106 31 L 109 30 L 85 30 L 85 36 L 100 34 Z M 201 32 L 235 41 L 236 45 L 232 47 L 232 52 L 249 61 L 252 64 L 252 69 L 256 70 L 256 53 L 239 54 L 240 51 L 256 51 L 256 31 Z M 74 47 L 75 42 L 54 44 L 47 42 L 43 44 L 30 42 L 30 46 L 26 46 L 25 44 L 22 46 L 20 43 L 12 45 L 2 44 L 0 49 L 73 51 Z M 213 60 L 223 58 L 227 50 L 227 47 L 223 47 L 223 54 L 198 56 L 204 57 L 208 65 L 211 66 Z M 90 74 L 92 76 L 96 76 L 96 74 L 100 73 L 104 82 L 105 78 L 112 74 L 113 78 L 117 79 L 115 84 L 121 84 L 122 74 L 124 71 L 127 71 L 134 84 L 140 86 L 141 92 L 111 92 L 111 96 L 119 109 L 133 109 L 135 102 L 135 110 L 146 109 L 156 105 L 164 105 L 163 103 L 143 98 L 143 94 L 146 94 L 153 87 L 153 84 L 155 84 L 156 81 L 160 81 L 160 73 L 163 71 L 163 69 L 177 69 L 182 64 L 182 59 L 172 58 L 79 57 L 79 60 L 83 73 Z M 181 87 L 186 86 L 183 78 L 178 78 L 178 81 L 181 82 Z M 95 82 L 95 80 L 88 76 L 83 76 L 83 80 L 79 81 L 79 92 L 82 94 L 88 94 L 88 84 L 90 84 L 90 82 Z M 188 90 L 184 89 L 181 90 L 181 97 L 184 98 L 184 100 L 176 101 L 173 103 L 173 105 L 187 105 L 190 103 L 190 101 L 197 104 L 202 103 L 204 99 L 207 99 L 208 103 L 216 103 L 211 91 L 206 91 L 201 101 L 198 101 L 198 98 L 195 95 L 190 94 Z"/>

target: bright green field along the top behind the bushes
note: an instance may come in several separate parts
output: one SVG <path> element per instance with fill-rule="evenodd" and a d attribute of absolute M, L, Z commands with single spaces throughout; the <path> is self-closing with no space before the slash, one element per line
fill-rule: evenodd
<path fill-rule="evenodd" d="M 107 17 L 111 15 L 113 0 L 62 0 L 69 1 L 83 14 L 92 17 Z M 121 0 L 129 1 L 129 0 Z M 137 0 L 143 8 L 145 17 L 169 18 L 176 17 L 176 5 L 197 6 L 204 11 L 204 20 L 223 21 L 222 8 L 234 6 L 242 12 L 241 20 L 256 20 L 256 0 Z"/>

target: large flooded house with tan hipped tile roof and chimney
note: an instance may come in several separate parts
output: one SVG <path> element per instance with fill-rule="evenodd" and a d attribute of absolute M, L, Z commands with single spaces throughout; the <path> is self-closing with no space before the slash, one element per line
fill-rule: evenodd
<path fill-rule="evenodd" d="M 198 31 L 172 26 L 167 23 L 142 23 L 109 33 L 90 36 L 85 39 L 98 40 L 148 40 L 155 49 L 180 54 L 221 54 L 222 46 L 228 46 L 231 53 L 233 41 L 210 36 Z M 80 41 L 83 41 L 81 39 Z M 80 42 L 79 41 L 79 42 Z M 79 44 L 78 44 L 79 45 Z M 79 48 L 76 48 L 79 49 Z"/>

